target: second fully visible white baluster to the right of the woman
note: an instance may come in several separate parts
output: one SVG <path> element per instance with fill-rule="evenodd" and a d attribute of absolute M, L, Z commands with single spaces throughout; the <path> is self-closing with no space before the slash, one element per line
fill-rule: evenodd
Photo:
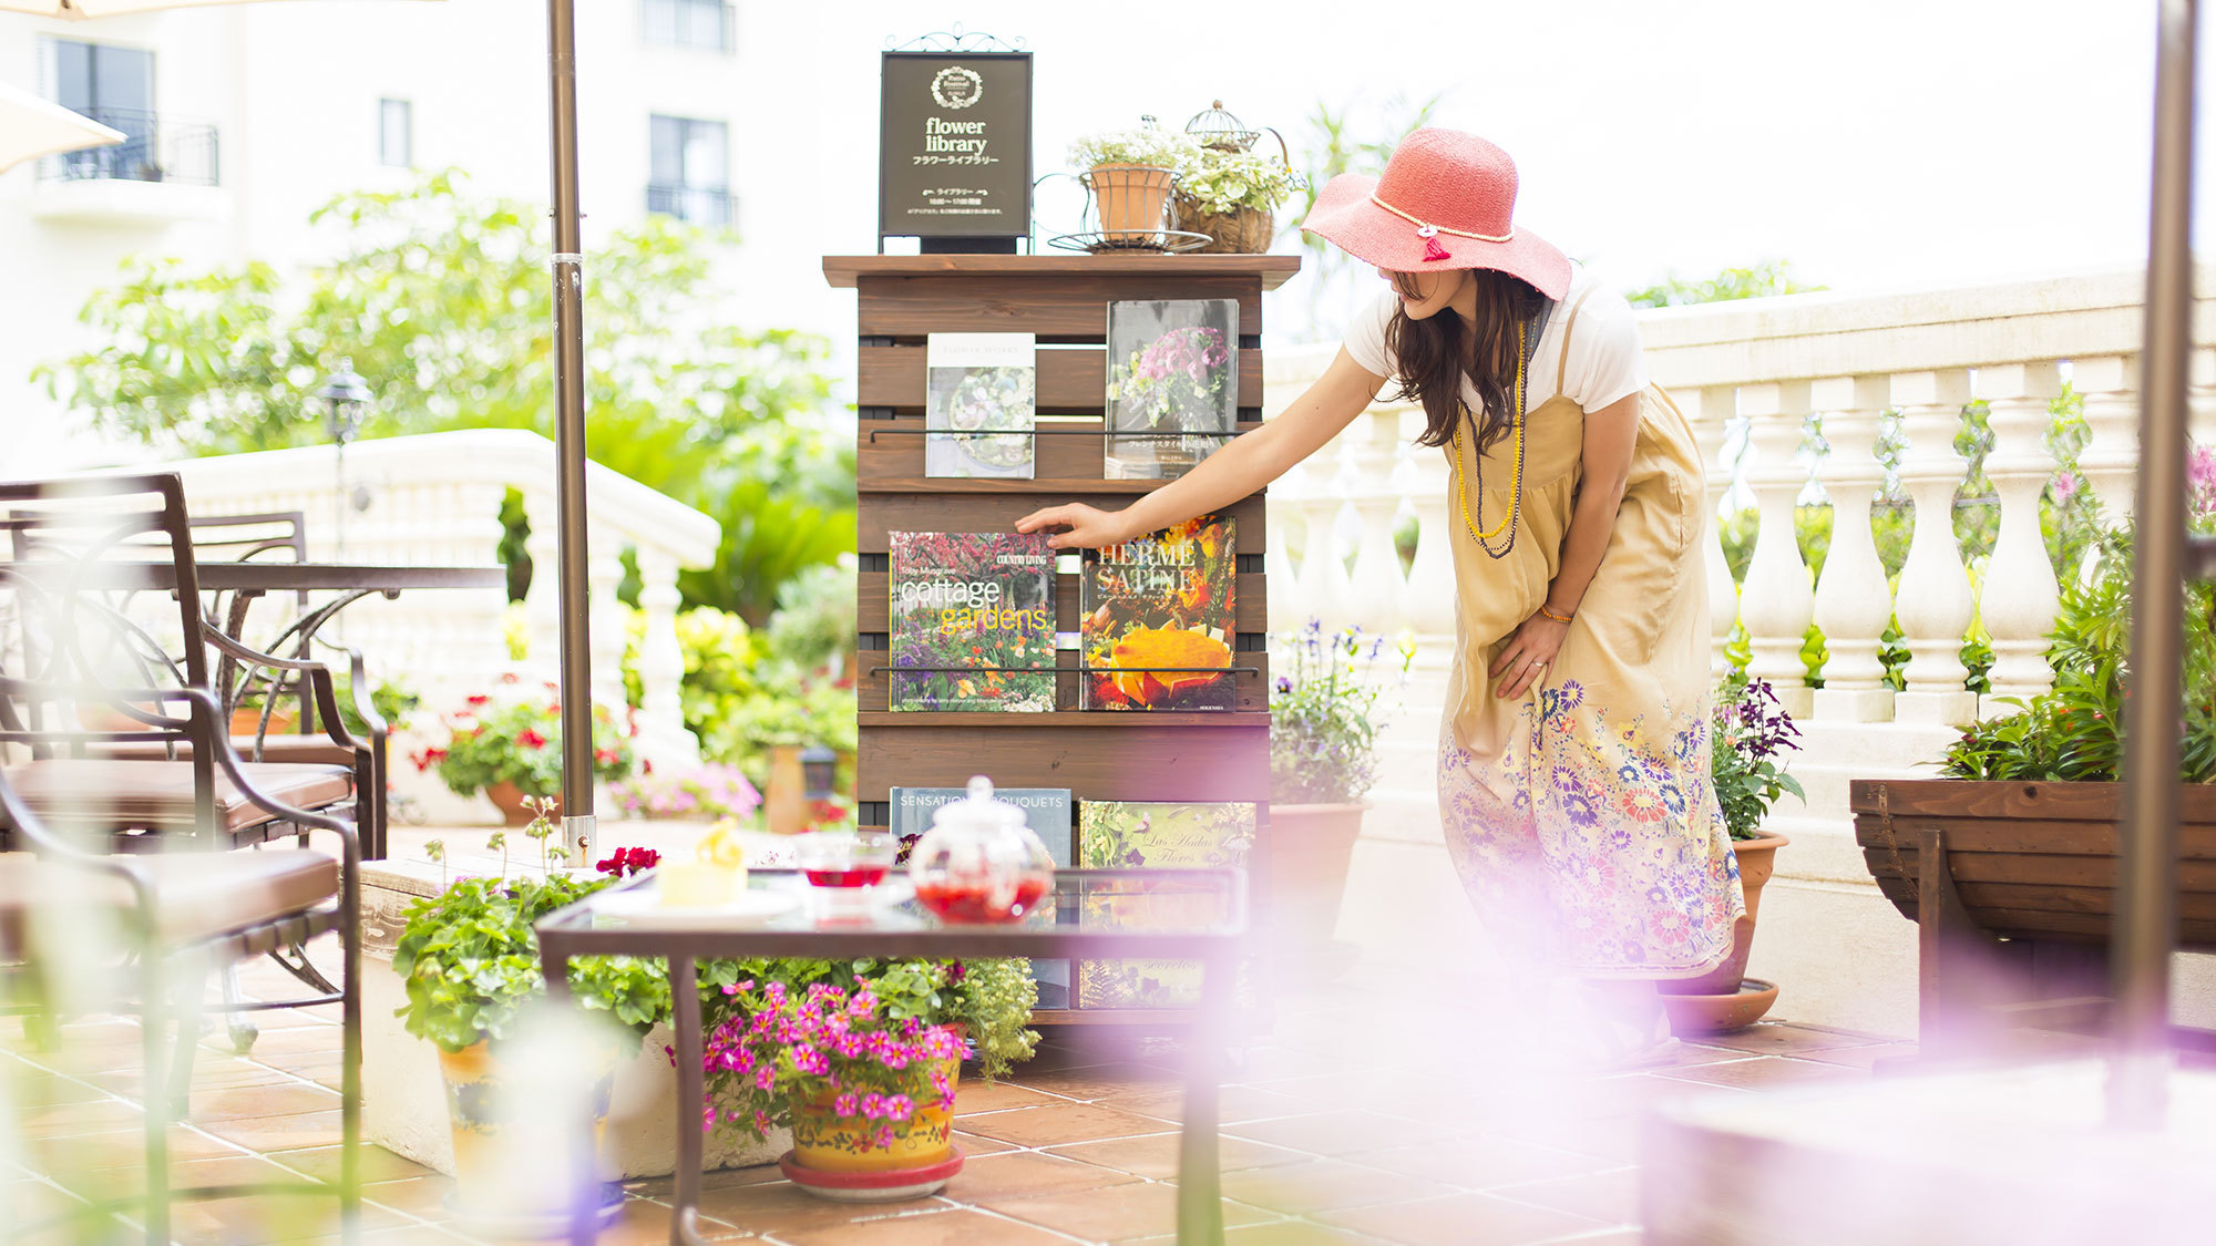
<path fill-rule="evenodd" d="M 1808 390 L 1830 441 L 1830 455 L 1817 468 L 1830 494 L 1830 550 L 1815 581 L 1815 625 L 1824 630 L 1826 650 L 1815 712 L 1819 718 L 1884 723 L 1892 718 L 1892 690 L 1884 685 L 1877 645 L 1892 623 L 1892 585 L 1877 556 L 1870 505 L 1886 481 L 1877 461 L 1877 421 L 1888 386 L 1884 377 L 1828 377 Z"/>

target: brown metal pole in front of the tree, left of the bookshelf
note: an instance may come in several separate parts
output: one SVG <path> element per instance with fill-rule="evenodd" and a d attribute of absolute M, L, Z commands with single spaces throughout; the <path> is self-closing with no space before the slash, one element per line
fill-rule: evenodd
<path fill-rule="evenodd" d="M 561 563 L 561 838 L 592 851 L 592 619 L 585 588 L 585 244 L 576 206 L 576 0 L 547 0 L 554 104 L 554 510 Z"/>

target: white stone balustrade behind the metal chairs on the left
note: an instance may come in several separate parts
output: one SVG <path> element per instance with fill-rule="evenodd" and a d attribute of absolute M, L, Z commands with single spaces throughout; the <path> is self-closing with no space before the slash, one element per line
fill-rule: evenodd
<path fill-rule="evenodd" d="M 341 561 L 339 481 L 328 446 L 184 459 L 157 470 L 184 479 L 193 514 L 306 514 L 308 556 Z M 401 565 L 490 565 L 501 543 L 501 499 L 523 494 L 532 585 L 525 616 L 532 667 L 552 678 L 558 654 L 558 570 L 554 552 L 554 443 L 536 432 L 485 428 L 359 441 L 346 450 L 346 492 L 366 499 L 343 523 L 343 561 Z M 357 494 L 357 490 L 363 490 Z M 645 641 L 638 674 L 638 752 L 656 763 L 698 760 L 685 729 L 676 639 L 678 568 L 716 559 L 718 523 L 598 463 L 585 472 L 587 583 L 592 590 L 594 701 L 623 705 L 625 612 L 616 601 L 620 554 L 638 552 Z M 397 601 L 350 605 L 326 639 L 359 647 L 372 678 L 403 678 L 428 709 L 443 709 L 510 670 L 503 643 L 507 594 L 414 590 Z"/>

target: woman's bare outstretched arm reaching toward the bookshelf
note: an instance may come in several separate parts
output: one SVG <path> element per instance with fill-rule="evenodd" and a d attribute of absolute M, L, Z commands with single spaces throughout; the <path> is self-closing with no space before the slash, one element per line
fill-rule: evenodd
<path fill-rule="evenodd" d="M 1130 541 L 1194 514 L 1221 510 L 1285 474 L 1338 435 L 1385 386 L 1385 377 L 1356 364 L 1345 348 L 1332 366 L 1276 419 L 1201 459 L 1197 468 L 1124 510 L 1084 503 L 1048 505 L 1015 521 L 1017 532 L 1053 530 L 1057 550 L 1090 550 Z"/>

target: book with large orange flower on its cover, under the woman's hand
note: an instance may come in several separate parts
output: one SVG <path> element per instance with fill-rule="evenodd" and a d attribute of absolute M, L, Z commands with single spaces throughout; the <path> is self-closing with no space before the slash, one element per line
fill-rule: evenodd
<path fill-rule="evenodd" d="M 1077 605 L 1081 709 L 1230 709 L 1234 521 L 1203 514 L 1086 550 Z"/>

